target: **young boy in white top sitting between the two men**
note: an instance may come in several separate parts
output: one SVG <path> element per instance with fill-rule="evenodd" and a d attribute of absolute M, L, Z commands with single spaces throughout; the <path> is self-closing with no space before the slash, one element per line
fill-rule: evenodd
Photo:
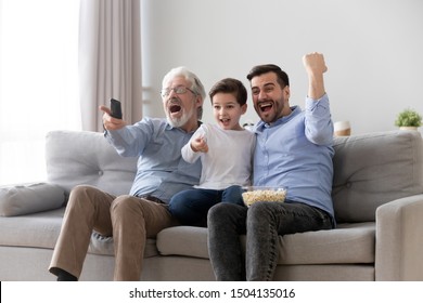
<path fill-rule="evenodd" d="M 193 163 L 201 159 L 202 175 L 195 188 L 175 195 L 170 212 L 181 224 L 206 226 L 207 212 L 226 201 L 243 205 L 241 186 L 252 182 L 254 133 L 240 124 L 247 109 L 247 91 L 236 79 L 218 81 L 209 92 L 216 124 L 202 124 L 182 157 Z"/>

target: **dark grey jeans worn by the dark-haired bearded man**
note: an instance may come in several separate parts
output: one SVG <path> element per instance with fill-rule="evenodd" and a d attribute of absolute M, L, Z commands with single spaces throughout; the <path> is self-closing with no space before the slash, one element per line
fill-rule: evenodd
<path fill-rule="evenodd" d="M 208 252 L 216 279 L 271 280 L 280 235 L 331 228 L 332 218 L 325 211 L 305 203 L 216 205 L 208 212 Z M 240 235 L 245 234 L 244 258 Z"/>

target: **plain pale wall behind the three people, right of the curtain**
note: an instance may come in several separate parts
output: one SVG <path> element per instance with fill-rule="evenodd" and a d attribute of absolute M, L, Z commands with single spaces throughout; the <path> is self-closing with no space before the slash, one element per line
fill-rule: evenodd
<path fill-rule="evenodd" d="M 257 64 L 280 65 L 291 104 L 304 107 L 302 56 L 322 52 L 334 121 L 352 134 L 395 130 L 398 111 L 423 114 L 421 0 L 141 0 L 144 116 L 163 117 L 163 76 L 184 65 L 206 91 Z M 249 90 L 248 90 L 249 91 Z M 244 121 L 256 121 L 251 100 Z M 209 100 L 204 121 L 214 122 Z"/>

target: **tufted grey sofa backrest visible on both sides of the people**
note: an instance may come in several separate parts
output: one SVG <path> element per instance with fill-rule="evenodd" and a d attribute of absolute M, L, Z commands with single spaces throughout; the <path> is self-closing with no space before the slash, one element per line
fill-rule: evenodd
<path fill-rule="evenodd" d="M 423 193 L 422 137 L 393 131 L 334 139 L 332 198 L 337 222 L 375 220 L 379 206 Z M 137 158 L 120 157 L 102 133 L 52 131 L 46 141 L 47 176 L 67 193 L 79 184 L 128 194 Z"/>

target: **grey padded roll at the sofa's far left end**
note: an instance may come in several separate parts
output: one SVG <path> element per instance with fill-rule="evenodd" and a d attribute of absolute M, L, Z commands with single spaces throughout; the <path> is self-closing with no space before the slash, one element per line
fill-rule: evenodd
<path fill-rule="evenodd" d="M 64 206 L 65 200 L 64 189 L 53 184 L 0 187 L 0 215 L 23 215 L 57 209 Z"/>

